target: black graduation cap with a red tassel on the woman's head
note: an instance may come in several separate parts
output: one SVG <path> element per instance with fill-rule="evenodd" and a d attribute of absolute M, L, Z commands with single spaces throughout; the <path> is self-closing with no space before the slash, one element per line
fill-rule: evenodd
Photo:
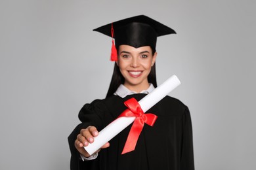
<path fill-rule="evenodd" d="M 112 37 L 112 61 L 117 61 L 116 47 L 118 48 L 121 44 L 135 48 L 150 46 L 152 50 L 156 50 L 157 37 L 176 33 L 170 27 L 144 15 L 133 16 L 111 24 L 106 24 L 93 29 L 93 31 L 98 31 Z"/>

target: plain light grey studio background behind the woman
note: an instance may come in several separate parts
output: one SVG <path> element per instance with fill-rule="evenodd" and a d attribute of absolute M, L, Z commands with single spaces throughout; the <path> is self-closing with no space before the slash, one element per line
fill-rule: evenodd
<path fill-rule="evenodd" d="M 0 169 L 69 169 L 67 137 L 84 103 L 104 98 L 111 39 L 92 31 L 146 14 L 158 84 L 190 108 L 196 169 L 254 169 L 255 1 L 0 1 Z M 157 146 L 157 144 L 156 144 Z"/>

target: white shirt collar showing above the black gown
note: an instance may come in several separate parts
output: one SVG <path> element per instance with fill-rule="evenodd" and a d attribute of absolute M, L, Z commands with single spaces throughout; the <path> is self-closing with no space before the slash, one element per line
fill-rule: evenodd
<path fill-rule="evenodd" d="M 151 93 L 153 90 L 154 90 L 154 86 L 153 84 L 150 83 L 150 86 L 147 90 L 142 90 L 140 93 L 145 93 L 145 94 L 148 94 L 148 93 Z M 137 92 L 133 92 L 131 90 L 129 90 L 128 88 L 126 88 L 125 86 L 123 86 L 123 84 L 121 84 L 116 92 L 114 93 L 114 95 L 118 95 L 119 97 L 126 97 L 127 95 L 131 95 L 131 94 L 136 94 Z"/>

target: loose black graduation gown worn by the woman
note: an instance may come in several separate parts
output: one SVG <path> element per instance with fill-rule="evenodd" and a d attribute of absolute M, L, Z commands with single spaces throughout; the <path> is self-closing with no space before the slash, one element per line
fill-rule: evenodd
<path fill-rule="evenodd" d="M 115 120 L 127 109 L 124 101 L 135 97 L 137 101 L 145 94 L 127 95 L 121 98 L 112 95 L 106 99 L 96 99 L 85 104 L 79 112 L 81 124 L 75 127 L 68 137 L 71 150 L 70 169 L 107 169 L 107 170 L 192 170 L 194 156 L 192 144 L 192 124 L 188 107 L 178 99 L 166 96 L 146 113 L 158 116 L 153 127 L 144 125 L 136 148 L 121 154 L 131 125 L 110 140 L 110 147 L 100 150 L 98 158 L 82 161 L 75 149 L 74 141 L 80 129 L 95 126 L 98 131 Z"/>

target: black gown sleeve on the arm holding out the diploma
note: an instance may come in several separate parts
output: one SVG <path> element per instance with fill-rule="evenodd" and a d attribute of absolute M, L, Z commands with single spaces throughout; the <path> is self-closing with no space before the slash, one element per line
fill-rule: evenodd
<path fill-rule="evenodd" d="M 77 125 L 72 133 L 68 136 L 68 144 L 70 146 L 71 159 L 70 159 L 70 169 L 98 169 L 99 163 L 98 159 L 83 161 L 80 158 L 80 154 L 75 148 L 75 140 L 77 135 L 80 133 L 81 129 L 87 128 L 88 126 L 95 126 L 98 131 L 102 129 L 102 119 L 104 118 L 104 113 L 106 112 L 106 107 L 101 100 L 95 100 L 91 104 L 85 104 L 79 111 L 78 117 L 81 124 Z"/>

